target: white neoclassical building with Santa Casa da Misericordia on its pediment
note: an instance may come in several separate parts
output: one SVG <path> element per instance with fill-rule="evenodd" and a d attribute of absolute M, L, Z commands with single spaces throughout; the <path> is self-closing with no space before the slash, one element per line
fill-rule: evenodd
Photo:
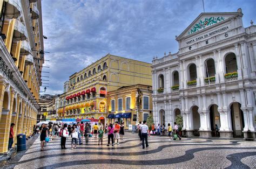
<path fill-rule="evenodd" d="M 242 11 L 201 13 L 176 40 L 179 51 L 153 58 L 153 117 L 183 135 L 255 139 L 256 26 Z"/>

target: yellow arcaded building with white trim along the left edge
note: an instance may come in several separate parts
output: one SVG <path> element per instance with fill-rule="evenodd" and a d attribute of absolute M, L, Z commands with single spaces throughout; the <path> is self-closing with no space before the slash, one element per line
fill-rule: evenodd
<path fill-rule="evenodd" d="M 44 42 L 41 1 L 1 0 L 0 9 L 0 153 L 6 153 L 11 123 L 15 143 L 36 124 Z"/>

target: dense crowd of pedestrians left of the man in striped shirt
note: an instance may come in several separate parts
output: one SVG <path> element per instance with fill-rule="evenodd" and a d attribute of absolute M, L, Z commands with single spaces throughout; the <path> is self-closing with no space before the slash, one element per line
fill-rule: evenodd
<path fill-rule="evenodd" d="M 105 131 L 104 131 L 105 130 Z M 89 137 L 98 138 L 98 145 L 103 145 L 104 132 L 107 133 L 107 146 L 112 146 L 114 144 L 119 145 L 119 140 L 123 140 L 124 136 L 124 123 L 119 124 L 114 122 L 103 126 L 102 123 L 83 123 L 77 122 L 77 124 L 42 124 L 39 126 L 34 126 L 34 133 L 40 133 L 41 140 L 41 151 L 44 150 L 49 140 L 54 140 L 56 137 L 60 137 L 60 146 L 61 149 L 66 149 L 66 140 L 71 140 L 71 150 L 76 149 L 77 145 L 83 144 L 83 139 L 85 139 L 85 144 L 89 143 Z"/>

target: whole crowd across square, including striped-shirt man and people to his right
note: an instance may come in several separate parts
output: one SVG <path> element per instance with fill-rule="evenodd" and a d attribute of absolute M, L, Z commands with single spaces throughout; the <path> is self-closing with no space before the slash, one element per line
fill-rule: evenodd
<path fill-rule="evenodd" d="M 149 130 L 149 126 L 147 126 L 147 122 L 143 121 L 138 124 L 138 132 L 140 141 L 142 141 L 142 147 L 149 146 L 147 142 L 147 138 L 150 135 L 158 135 L 164 136 L 165 130 L 168 132 L 168 136 L 170 140 L 179 138 L 181 139 L 178 132 L 179 128 L 176 122 L 174 122 L 174 128 L 172 129 L 171 124 L 169 123 L 167 128 L 165 128 L 165 124 L 158 124 L 155 126 L 154 124 L 151 126 L 151 130 Z M 174 131 L 174 132 L 173 132 Z M 35 133 L 41 133 L 41 151 L 44 150 L 45 142 L 49 140 L 54 140 L 56 137 L 60 137 L 60 146 L 61 149 L 66 149 L 66 140 L 71 140 L 71 150 L 77 149 L 77 145 L 83 144 L 83 139 L 85 139 L 85 144 L 89 143 L 89 137 L 98 138 L 98 145 L 103 145 L 104 132 L 107 133 L 107 145 L 106 146 L 114 146 L 119 145 L 119 141 L 124 139 L 124 123 L 122 122 L 114 122 L 113 124 L 106 124 L 103 126 L 102 123 L 95 123 L 95 125 L 91 125 L 91 123 L 83 123 L 77 122 L 77 124 L 42 124 L 40 128 L 38 126 L 34 126 Z M 173 136 L 173 138 L 172 138 Z M 146 145 L 146 146 L 145 146 Z"/>

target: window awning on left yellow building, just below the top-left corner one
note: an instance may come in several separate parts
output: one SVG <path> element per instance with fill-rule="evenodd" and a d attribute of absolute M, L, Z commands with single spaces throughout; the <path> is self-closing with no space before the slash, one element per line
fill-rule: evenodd
<path fill-rule="evenodd" d="M 17 40 L 17 41 L 26 40 L 27 37 L 28 37 L 28 32 L 26 31 L 26 27 L 18 19 L 15 20 L 14 39 Z"/>

